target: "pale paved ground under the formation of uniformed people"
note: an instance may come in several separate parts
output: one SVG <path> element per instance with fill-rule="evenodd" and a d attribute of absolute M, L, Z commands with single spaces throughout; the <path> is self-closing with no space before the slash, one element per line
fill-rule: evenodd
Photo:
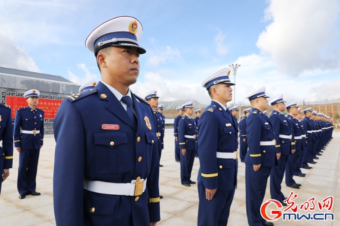
<path fill-rule="evenodd" d="M 312 165 L 313 169 L 304 170 L 306 177 L 294 179 L 301 183 L 301 189 L 294 190 L 298 195 L 297 204 L 315 197 L 316 201 L 321 201 L 328 196 L 334 197 L 334 221 L 284 221 L 279 219 L 275 225 L 340 225 L 340 131 L 334 131 L 333 139 L 327 146 L 324 154 L 317 160 L 317 164 Z M 45 145 L 41 150 L 37 191 L 41 196 L 27 196 L 25 199 L 18 198 L 16 189 L 18 153 L 14 153 L 13 169 L 10 170 L 9 178 L 3 183 L 0 197 L 0 225 L 55 225 L 53 213 L 53 163 L 55 142 L 52 135 L 46 135 Z M 173 130 L 166 129 L 164 150 L 162 154 L 160 168 L 160 194 L 164 198 L 160 201 L 161 221 L 158 225 L 197 225 L 198 194 L 197 186 L 185 187 L 180 182 L 180 164 L 174 159 L 174 137 Z M 246 215 L 245 200 L 245 165 L 239 162 L 238 185 L 230 209 L 228 225 L 248 225 Z M 192 178 L 196 181 L 199 168 L 198 159 L 195 159 Z M 269 183 L 269 182 L 268 182 Z M 283 193 L 289 195 L 293 190 L 282 184 Z M 269 186 L 267 186 L 265 200 L 270 199 Z M 272 205 L 269 206 L 269 208 Z M 268 210 L 269 211 L 269 210 Z M 267 212 L 268 212 L 267 211 Z M 299 211 L 300 213 L 308 213 Z M 314 211 L 315 212 L 315 211 Z M 320 212 L 320 211 L 319 211 Z M 313 212 L 312 212 L 313 213 Z"/>

